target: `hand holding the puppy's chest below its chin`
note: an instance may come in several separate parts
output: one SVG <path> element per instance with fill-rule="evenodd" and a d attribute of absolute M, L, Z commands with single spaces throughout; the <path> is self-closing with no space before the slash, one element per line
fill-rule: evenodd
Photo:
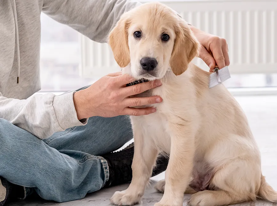
<path fill-rule="evenodd" d="M 79 120 L 100 116 L 115 117 L 119 115 L 147 115 L 154 113 L 155 108 L 133 108 L 162 102 L 159 96 L 130 97 L 149 89 L 158 87 L 159 80 L 143 82 L 126 87 L 126 84 L 135 81 L 133 77 L 121 72 L 108 74 L 87 89 L 74 94 L 73 100 Z"/>

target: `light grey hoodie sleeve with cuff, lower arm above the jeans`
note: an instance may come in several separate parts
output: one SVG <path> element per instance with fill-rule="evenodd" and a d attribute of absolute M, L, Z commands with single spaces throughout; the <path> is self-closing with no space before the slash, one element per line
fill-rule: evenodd
<path fill-rule="evenodd" d="M 86 124 L 87 119 L 79 121 L 77 118 L 73 95 L 74 92 L 59 96 L 36 94 L 19 100 L 0 93 L 0 118 L 45 139 L 55 132 Z"/>

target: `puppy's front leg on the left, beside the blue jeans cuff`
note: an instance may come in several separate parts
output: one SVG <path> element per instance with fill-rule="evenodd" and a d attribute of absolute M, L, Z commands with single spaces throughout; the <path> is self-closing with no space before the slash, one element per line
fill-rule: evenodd
<path fill-rule="evenodd" d="M 139 128 L 140 127 L 133 125 L 133 178 L 130 186 L 126 190 L 115 192 L 112 196 L 111 203 L 116 205 L 133 205 L 140 203 L 146 185 L 148 184 L 151 177 L 152 167 L 155 164 L 158 156 L 158 151 L 153 146 L 151 137 L 148 137 L 148 135 L 143 135 Z"/>

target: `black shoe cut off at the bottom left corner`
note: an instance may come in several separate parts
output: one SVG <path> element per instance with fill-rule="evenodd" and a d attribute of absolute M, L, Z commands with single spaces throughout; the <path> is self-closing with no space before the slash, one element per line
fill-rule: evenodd
<path fill-rule="evenodd" d="M 4 179 L 3 177 L 0 177 L 0 180 L 3 187 L 6 188 L 6 192 L 5 192 L 5 189 L 2 188 L 0 184 L 0 206 L 5 205 L 13 198 L 24 197 L 24 188 L 22 186 L 12 184 L 8 182 L 6 179 Z M 2 197 L 1 195 L 3 196 L 6 195 L 4 200 L 3 200 L 4 197 Z"/>

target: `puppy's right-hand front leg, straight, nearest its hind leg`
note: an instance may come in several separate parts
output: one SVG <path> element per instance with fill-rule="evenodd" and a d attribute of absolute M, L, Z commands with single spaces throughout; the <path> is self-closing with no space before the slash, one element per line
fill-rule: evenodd
<path fill-rule="evenodd" d="M 194 132 L 189 126 L 171 125 L 171 151 L 163 198 L 155 206 L 181 206 L 193 168 Z"/>

